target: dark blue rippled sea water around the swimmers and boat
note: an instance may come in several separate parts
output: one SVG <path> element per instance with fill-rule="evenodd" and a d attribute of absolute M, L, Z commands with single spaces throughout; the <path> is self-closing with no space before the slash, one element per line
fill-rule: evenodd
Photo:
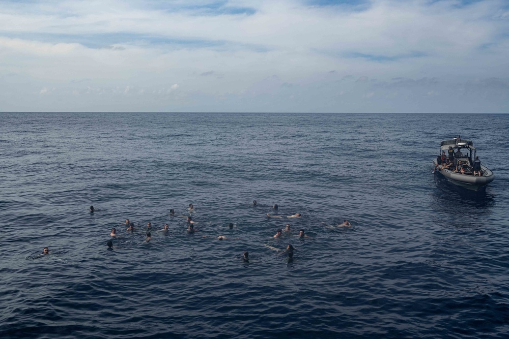
<path fill-rule="evenodd" d="M 0 337 L 505 338 L 508 125 L 484 114 L 0 113 Z M 485 192 L 431 173 L 457 134 L 495 173 Z M 194 235 L 168 216 L 189 203 Z M 303 217 L 267 219 L 275 203 Z M 345 219 L 351 228 L 326 226 Z M 287 222 L 293 234 L 273 238 Z M 288 243 L 293 261 L 265 246 Z"/>

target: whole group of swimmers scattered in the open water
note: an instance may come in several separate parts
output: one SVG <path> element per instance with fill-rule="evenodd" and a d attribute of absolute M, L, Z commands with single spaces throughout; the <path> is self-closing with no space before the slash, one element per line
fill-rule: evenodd
<path fill-rule="evenodd" d="M 253 206 L 257 206 L 258 203 L 256 200 L 253 201 Z M 278 205 L 275 204 L 272 206 L 272 209 L 274 210 L 277 210 L 278 209 Z M 177 218 L 185 218 L 186 219 L 186 223 L 187 223 L 187 232 L 190 233 L 190 234 L 193 234 L 197 231 L 200 231 L 199 229 L 196 229 L 194 228 L 194 225 L 196 224 L 195 221 L 192 220 L 192 217 L 191 217 L 191 213 L 195 212 L 196 209 L 194 208 L 193 204 L 189 204 L 189 208 L 187 209 L 187 211 L 189 212 L 189 215 L 176 215 L 175 214 L 175 210 L 172 208 L 169 210 L 169 216 L 171 217 L 177 217 Z M 94 206 L 90 206 L 90 212 L 91 213 L 94 213 Z M 301 213 L 295 213 L 295 214 L 292 214 L 292 215 L 276 215 L 276 214 L 270 214 L 270 213 L 267 213 L 267 218 L 287 218 L 287 219 L 292 219 L 292 218 L 301 218 L 302 217 L 302 214 Z M 126 219 L 125 220 L 125 223 L 124 223 L 125 226 L 127 226 L 126 228 L 126 232 L 128 233 L 132 233 L 135 231 L 135 228 L 134 228 L 134 223 L 131 222 L 129 219 Z M 329 226 L 329 225 L 327 225 Z M 333 226 L 333 225 L 330 225 L 330 226 Z M 348 220 L 345 220 L 342 224 L 337 224 L 335 225 L 336 227 L 351 227 L 352 225 L 348 222 Z M 234 224 L 233 223 L 230 223 L 228 225 L 228 227 L 230 229 L 233 229 L 234 228 Z M 151 239 L 152 239 L 152 233 L 151 231 L 153 230 L 153 227 L 152 227 L 152 223 L 148 222 L 147 223 L 147 231 L 146 231 L 146 238 L 145 238 L 145 242 L 150 242 Z M 167 232 L 169 230 L 169 225 L 168 224 L 164 224 L 163 228 L 159 231 L 162 231 L 162 232 Z M 286 227 L 284 230 L 282 229 L 277 229 L 276 231 L 276 234 L 273 235 L 273 238 L 280 238 L 282 237 L 283 235 L 283 231 L 287 234 L 290 234 L 292 232 L 292 228 L 291 228 L 291 225 L 290 224 L 286 224 Z M 110 231 L 110 234 L 109 234 L 111 237 L 116 237 L 118 235 L 117 233 L 117 228 L 116 227 L 113 227 L 111 228 L 111 231 Z M 204 235 L 203 236 L 204 238 L 215 238 L 215 239 L 220 239 L 220 240 L 223 240 L 223 239 L 231 239 L 231 240 L 234 240 L 234 239 L 239 239 L 239 238 L 227 238 L 223 235 L 219 235 L 219 236 L 207 236 L 207 235 Z M 309 235 L 307 235 L 305 233 L 305 231 L 303 229 L 300 229 L 299 230 L 299 234 L 297 235 L 297 237 L 301 238 L 301 239 L 304 239 L 304 238 L 312 238 L 310 237 Z M 107 245 L 107 250 L 108 251 L 112 251 L 113 250 L 113 242 L 112 240 L 108 240 L 108 242 L 106 243 Z M 287 254 L 288 255 L 288 258 L 289 259 L 293 259 L 293 251 L 294 251 L 294 247 L 291 245 L 291 244 L 288 244 L 287 248 L 285 250 L 279 250 L 279 249 L 276 249 L 272 246 L 269 246 L 267 244 L 265 244 L 265 246 L 271 250 L 274 250 L 280 254 Z M 43 255 L 45 254 L 49 254 L 49 249 L 47 247 L 45 247 L 43 249 Z M 249 260 L 249 252 L 245 251 L 243 254 L 242 254 L 242 259 L 247 262 Z"/>

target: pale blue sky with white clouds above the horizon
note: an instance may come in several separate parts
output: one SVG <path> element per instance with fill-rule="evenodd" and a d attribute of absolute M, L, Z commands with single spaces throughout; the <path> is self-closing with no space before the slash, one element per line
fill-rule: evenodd
<path fill-rule="evenodd" d="M 0 111 L 509 112 L 506 0 L 1 0 Z"/>

